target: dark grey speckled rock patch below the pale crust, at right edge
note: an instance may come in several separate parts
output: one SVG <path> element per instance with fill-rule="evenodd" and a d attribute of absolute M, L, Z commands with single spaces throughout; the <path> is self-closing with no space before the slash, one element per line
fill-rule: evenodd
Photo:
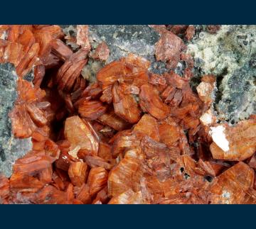
<path fill-rule="evenodd" d="M 215 106 L 219 117 L 231 124 L 256 113 L 256 69 L 249 64 L 223 78 L 220 101 Z"/>

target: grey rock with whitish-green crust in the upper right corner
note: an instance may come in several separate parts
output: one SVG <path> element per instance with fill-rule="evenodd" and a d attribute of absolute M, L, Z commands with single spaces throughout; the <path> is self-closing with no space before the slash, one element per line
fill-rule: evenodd
<path fill-rule="evenodd" d="M 221 26 L 215 34 L 197 26 L 188 53 L 196 78 L 217 77 L 215 111 L 220 120 L 233 124 L 255 113 L 256 26 Z"/>

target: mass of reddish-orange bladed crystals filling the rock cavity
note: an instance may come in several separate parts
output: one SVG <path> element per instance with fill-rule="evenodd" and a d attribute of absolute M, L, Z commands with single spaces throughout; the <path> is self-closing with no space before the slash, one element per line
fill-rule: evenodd
<path fill-rule="evenodd" d="M 256 203 L 255 116 L 215 122 L 215 77 L 193 93 L 193 60 L 174 33 L 161 34 L 156 58 L 186 61 L 184 76 L 153 74 L 149 61 L 129 54 L 93 84 L 82 68 L 109 50 L 101 43 L 90 54 L 87 26 L 78 26 L 77 52 L 59 26 L 0 26 L 0 37 L 0 62 L 18 74 L 12 130 L 33 142 L 12 176 L 0 177 L 1 203 Z M 174 41 L 175 55 L 164 48 Z M 23 79 L 32 69 L 33 83 Z M 209 134 L 220 126 L 228 150 Z"/>

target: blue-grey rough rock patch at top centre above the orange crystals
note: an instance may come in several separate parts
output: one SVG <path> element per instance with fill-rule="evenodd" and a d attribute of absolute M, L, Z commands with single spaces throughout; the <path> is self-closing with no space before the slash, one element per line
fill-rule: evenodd
<path fill-rule="evenodd" d="M 117 60 L 129 52 L 155 61 L 154 45 L 159 40 L 159 34 L 149 26 L 90 26 L 90 37 L 97 43 L 107 43 L 110 48 L 107 62 Z"/>

